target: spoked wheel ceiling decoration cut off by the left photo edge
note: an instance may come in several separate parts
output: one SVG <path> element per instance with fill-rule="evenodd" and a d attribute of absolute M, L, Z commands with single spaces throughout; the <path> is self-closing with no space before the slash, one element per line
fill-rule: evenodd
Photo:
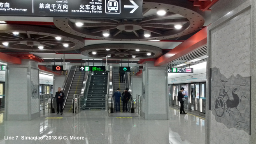
<path fill-rule="evenodd" d="M 70 51 L 84 46 L 82 37 L 53 28 L 37 26 L 0 26 L 0 48 L 21 51 Z"/>

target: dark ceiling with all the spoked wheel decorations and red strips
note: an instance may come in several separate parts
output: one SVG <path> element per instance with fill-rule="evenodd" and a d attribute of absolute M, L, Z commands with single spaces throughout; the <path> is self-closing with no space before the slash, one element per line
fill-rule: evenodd
<path fill-rule="evenodd" d="M 167 11 L 165 16 L 156 14 L 160 9 Z M 0 21 L 7 22 L 0 24 L 0 40 L 10 41 L 8 47 L 0 44 L 0 52 L 33 53 L 43 58 L 46 65 L 60 62 L 60 58 L 64 58 L 63 53 L 65 61 L 70 63 L 105 63 L 107 54 L 112 54 L 109 63 L 121 63 L 120 59 L 138 63 L 139 59 L 159 58 L 174 49 L 208 26 L 210 15 L 210 11 L 200 11 L 189 0 L 143 0 L 142 20 L 0 16 Z M 84 26 L 75 26 L 75 20 L 83 21 Z M 176 30 L 175 23 L 182 23 L 183 28 Z M 104 30 L 109 30 L 109 37 L 102 36 Z M 144 30 L 151 32 L 151 37 L 145 38 Z M 19 35 L 12 35 L 14 31 L 19 31 Z M 56 40 L 56 36 L 62 37 L 61 41 Z M 64 43 L 69 44 L 68 48 L 63 47 Z M 44 49 L 38 49 L 38 44 L 42 44 Z M 112 46 L 114 51 L 106 53 L 104 49 L 107 47 L 104 46 Z M 140 52 L 144 54 L 138 52 L 136 55 L 135 48 L 143 49 Z M 94 56 L 92 51 L 99 55 Z M 105 55 L 100 55 L 100 52 Z M 149 52 L 151 56 L 146 55 Z M 126 54 L 121 56 L 121 53 Z"/>

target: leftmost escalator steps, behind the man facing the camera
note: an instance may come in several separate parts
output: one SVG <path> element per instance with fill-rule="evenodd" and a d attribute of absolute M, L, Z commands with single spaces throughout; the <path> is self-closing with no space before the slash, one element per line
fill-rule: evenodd
<path fill-rule="evenodd" d="M 65 103 L 63 112 L 73 112 L 72 111 L 72 100 L 74 98 L 74 94 L 81 93 L 81 88 L 84 80 L 85 72 L 80 72 L 79 67 L 77 67 L 76 72 L 74 73 L 74 78 L 72 80 L 72 84 L 67 95 L 67 101 Z"/>

